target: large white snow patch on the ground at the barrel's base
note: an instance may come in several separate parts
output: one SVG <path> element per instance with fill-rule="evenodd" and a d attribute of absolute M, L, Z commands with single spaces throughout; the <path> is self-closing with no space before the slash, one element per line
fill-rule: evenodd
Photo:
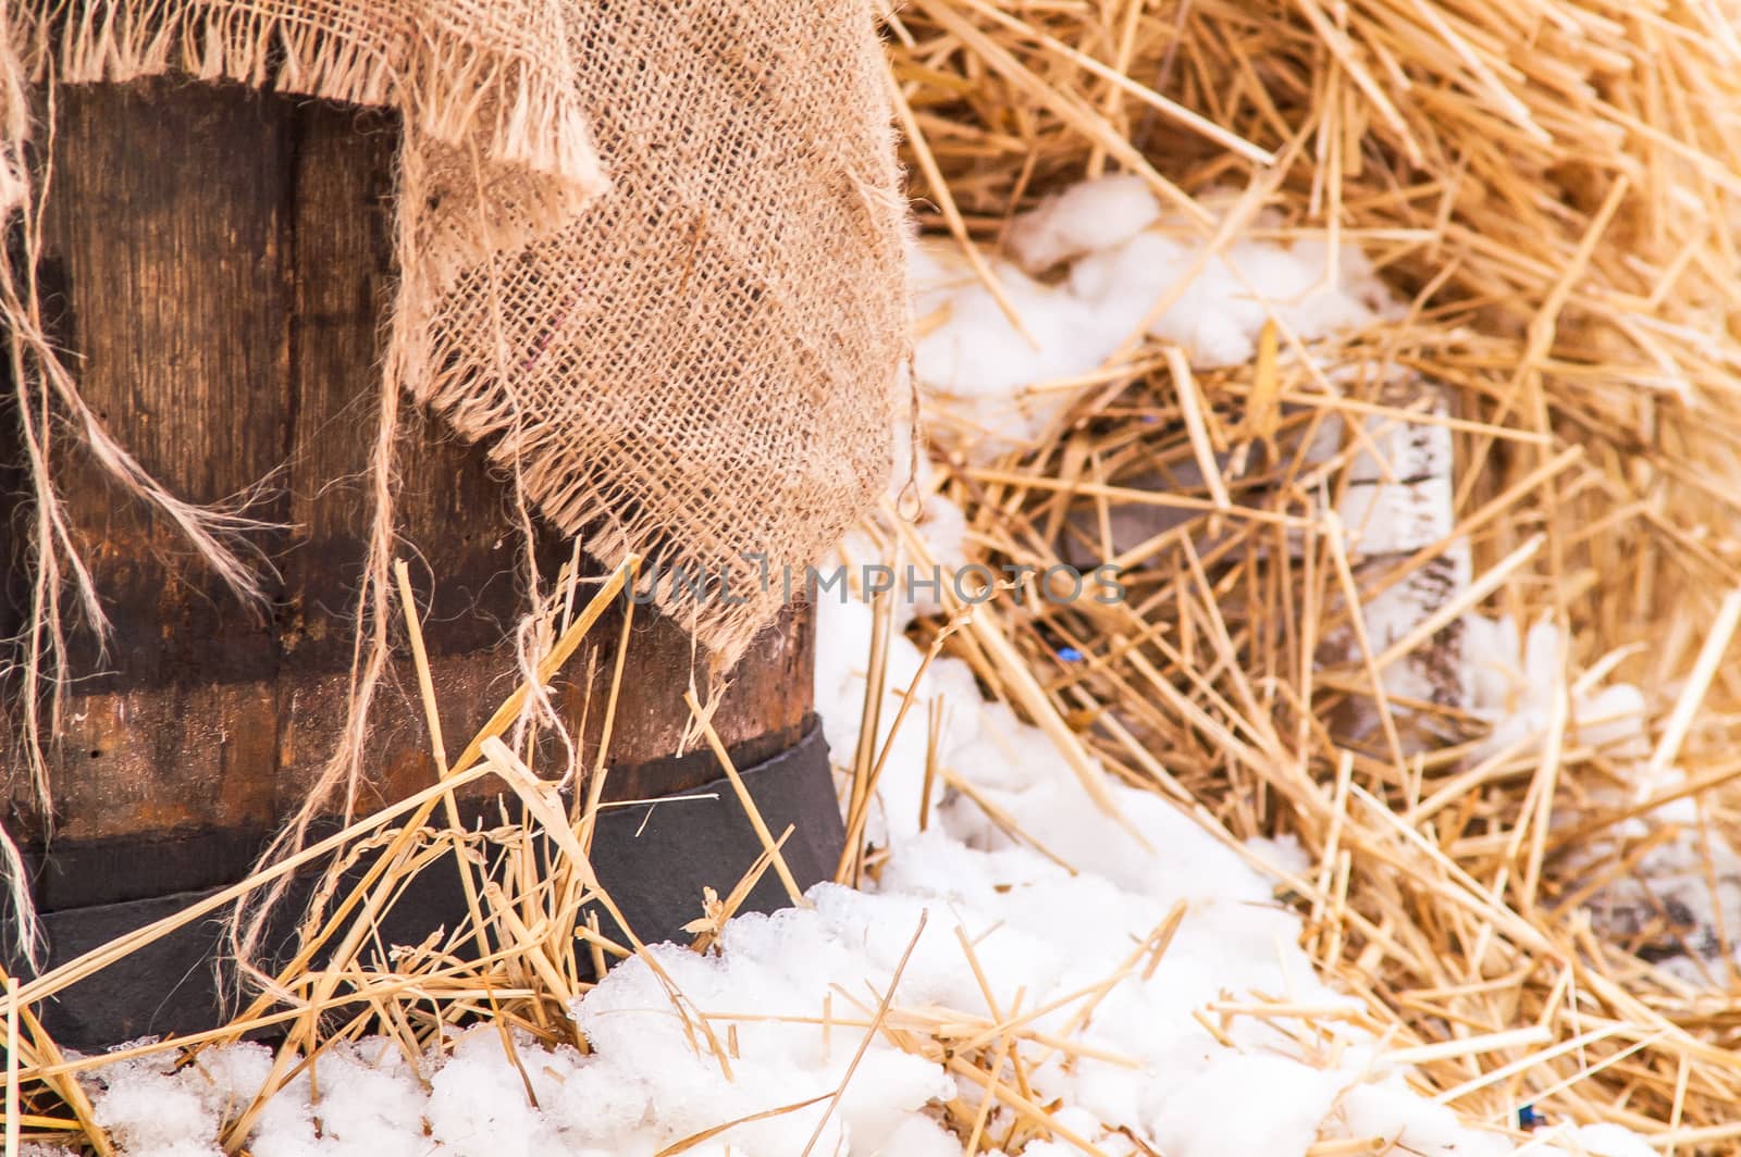
<path fill-rule="evenodd" d="M 870 611 L 853 600 L 823 602 L 818 612 L 820 652 L 832 663 L 818 666 L 817 701 L 837 750 L 851 750 L 864 673 L 850 656 L 864 654 Z M 919 651 L 905 637 L 891 651 L 898 670 L 918 670 Z M 823 884 L 811 889 L 810 908 L 738 917 L 712 955 L 656 946 L 679 1004 L 646 964 L 616 967 L 573 1009 L 590 1054 L 515 1035 L 515 1065 L 501 1033 L 481 1027 L 456 1033 L 446 1056 L 420 1058 L 420 1075 L 387 1040 L 333 1046 L 313 1082 L 305 1073 L 268 1101 L 249 1148 L 258 1157 L 651 1157 L 721 1124 L 801 1105 L 688 1152 L 792 1157 L 820 1124 L 817 1154 L 959 1154 L 937 1105 L 977 1105 L 980 1094 L 942 1068 L 935 1047 L 900 1047 L 879 1033 L 853 1067 L 865 1023 L 912 945 L 893 986 L 893 1023 L 984 1025 L 1057 1004 L 1032 1028 L 1071 1035 L 1092 1056 L 1067 1063 L 1024 1042 L 1032 1100 L 1060 1103 L 1057 1124 L 1104 1154 L 1142 1152 L 1121 1129 L 1170 1157 L 1285 1157 L 1321 1140 L 1381 1134 L 1396 1138 L 1400 1152 L 1511 1152 L 1508 1138 L 1408 1091 L 1405 1073 L 1354 1023 L 1360 1004 L 1316 976 L 1297 948 L 1299 919 L 1254 866 L 1299 866 L 1295 847 L 1264 846 L 1248 861 L 1163 799 L 1112 786 L 1139 842 L 1088 802 L 1038 729 L 978 696 L 958 659 L 937 659 L 921 692 L 942 694 L 952 708 L 944 762 L 1046 853 L 954 793 L 919 832 L 923 734 L 916 748 L 902 746 L 902 736 L 881 792 L 891 849 L 867 891 Z M 1153 960 L 1146 945 L 1175 903 L 1186 905 L 1184 920 Z M 1325 1021 L 1328 1037 L 1295 1040 L 1264 1018 L 1210 1011 L 1266 1000 L 1342 1007 L 1349 1020 Z M 716 1039 L 729 1040 L 724 1061 L 702 1042 L 703 1014 Z M 1222 1025 L 1227 1044 L 1194 1014 Z M 924 1028 L 911 1032 L 926 1037 Z M 268 1067 L 266 1049 L 252 1044 L 205 1053 L 176 1073 L 160 1060 L 124 1061 L 101 1072 L 94 1101 L 131 1157 L 214 1154 L 221 1122 Z M 991 1136 L 1001 1138 L 1010 1117 L 994 1114 L 992 1124 Z M 1579 1134 L 1591 1152 L 1630 1152 L 1596 1148 L 1609 1145 L 1603 1138 Z M 1060 1134 L 1024 1152 L 1081 1150 Z"/>

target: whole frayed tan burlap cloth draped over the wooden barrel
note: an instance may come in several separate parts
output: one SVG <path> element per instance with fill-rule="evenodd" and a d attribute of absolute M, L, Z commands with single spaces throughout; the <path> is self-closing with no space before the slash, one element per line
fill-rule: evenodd
<path fill-rule="evenodd" d="M 780 567 L 876 501 L 905 304 L 867 0 L 3 2 L 33 84 L 185 71 L 399 110 L 388 378 L 597 558 L 660 564 L 726 665 Z M 0 200 L 28 184 L 9 101 Z"/>

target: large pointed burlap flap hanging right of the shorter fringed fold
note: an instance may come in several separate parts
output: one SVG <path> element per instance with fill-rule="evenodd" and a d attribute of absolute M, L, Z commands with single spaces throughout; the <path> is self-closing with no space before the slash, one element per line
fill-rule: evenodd
<path fill-rule="evenodd" d="M 904 205 L 872 10 L 580 3 L 571 37 L 613 190 L 467 273 L 411 379 L 595 555 L 660 564 L 729 663 L 888 480 Z"/>

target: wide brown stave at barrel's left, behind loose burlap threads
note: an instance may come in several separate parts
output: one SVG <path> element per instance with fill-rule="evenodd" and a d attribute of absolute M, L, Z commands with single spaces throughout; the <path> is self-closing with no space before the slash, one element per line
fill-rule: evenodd
<path fill-rule="evenodd" d="M 221 501 L 284 458 L 289 397 L 273 385 L 287 376 L 286 122 L 244 90 L 66 97 L 44 212 L 56 338 L 87 404 L 165 487 Z M 190 150 L 209 150 L 207 164 L 165 164 Z M 270 623 L 77 452 L 61 456 L 56 482 L 113 625 L 106 654 L 75 633 L 57 826 L 77 839 L 270 821 Z"/>

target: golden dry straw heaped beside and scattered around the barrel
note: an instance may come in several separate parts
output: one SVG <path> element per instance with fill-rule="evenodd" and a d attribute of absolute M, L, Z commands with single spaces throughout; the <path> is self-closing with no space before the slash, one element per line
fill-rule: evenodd
<path fill-rule="evenodd" d="M 1213 369 L 1146 322 L 1109 364 L 1039 383 L 1064 409 L 1032 445 L 989 463 L 938 452 L 930 485 L 965 512 L 973 560 L 1111 562 L 1126 599 L 1017 605 L 998 592 L 919 621 L 912 640 L 966 661 L 987 694 L 1041 727 L 1109 821 L 1123 819 L 1106 788 L 1118 778 L 1276 873 L 1276 903 L 1299 912 L 1306 950 L 1356 999 L 1353 1023 L 1382 1042 L 1381 1060 L 1412 1065 L 1417 1089 L 1469 1119 L 1509 1127 L 1529 1101 L 1678 1154 L 1727 1152 L 1741 1136 L 1731 969 L 1689 946 L 1689 929 L 1619 927 L 1596 901 L 1640 877 L 1649 893 L 1649 854 L 1701 840 L 1715 886 L 1710 844 L 1741 819 L 1741 673 L 1725 665 L 1741 623 L 1741 38 L 1727 21 L 1691 0 L 918 0 L 888 17 L 886 42 L 918 223 L 963 247 L 1006 311 L 992 257 L 1012 216 L 1107 171 L 1139 176 L 1168 212 L 1161 228 L 1200 242 L 1203 263 L 1245 238 L 1311 242 L 1328 249 L 1332 277 L 1337 249 L 1354 244 L 1408 303 L 1309 344 L 1273 318 L 1254 364 Z M 1184 292 L 1149 303 L 1147 320 Z M 928 398 L 924 418 L 971 437 L 944 400 Z M 1449 445 L 1452 496 L 1433 541 L 1368 553 L 1330 515 L 1360 466 L 1408 485 L 1386 447 L 1412 437 Z M 877 541 L 931 562 L 893 508 L 881 517 Z M 1161 522 L 1112 529 L 1144 518 Z M 1381 635 L 1377 600 L 1424 586 L 1442 597 Z M 573 586 L 564 600 L 575 605 Z M 1483 746 L 1490 712 L 1469 698 L 1471 679 L 1518 656 L 1466 649 L 1476 614 L 1520 632 L 1546 618 L 1560 633 L 1565 686 L 1515 689 L 1541 692 L 1548 734 Z M 548 679 L 590 623 L 587 611 L 562 618 L 534 677 Z M 1046 854 L 1046 832 L 1022 830 L 947 766 L 942 708 L 888 684 L 891 623 L 879 607 L 864 739 L 836 753 L 851 778 L 841 879 L 874 863 L 862 818 L 890 722 L 930 727 L 928 786 Z M 1079 661 L 1060 661 L 1059 640 Z M 1422 670 L 1452 679 L 1424 696 L 1402 682 Z M 1579 696 L 1612 682 L 1644 689 L 1642 753 L 1603 746 L 1579 717 Z M 310 929 L 310 943 L 343 952 L 319 973 L 303 959 L 275 978 L 280 995 L 204 1040 L 298 1025 L 308 1056 L 334 1039 L 320 1014 L 357 1023 L 357 1009 L 407 1047 L 439 1046 L 477 1014 L 571 1040 L 564 1009 L 581 974 L 635 953 L 653 962 L 575 915 L 595 896 L 585 840 L 545 807 L 557 776 L 500 743 L 521 717 L 515 696 L 442 786 L 320 846 L 360 854 L 373 839 L 404 854 L 360 893 L 333 896 Z M 717 748 L 702 706 L 691 712 Z M 507 774 L 533 814 L 489 835 L 432 821 L 461 778 L 482 774 Z M 1696 823 L 1668 825 L 1668 804 Z M 931 819 L 924 804 L 919 814 Z M 780 872 L 780 840 L 756 826 L 757 872 Z M 1254 837 L 1292 837 L 1307 868 L 1276 872 Z M 437 945 L 390 967 L 364 959 L 404 873 L 453 870 L 440 861 L 486 847 L 515 866 L 449 941 L 484 943 L 487 926 L 489 955 L 461 964 Z M 728 910 L 705 908 L 703 946 Z M 1020 1152 L 1052 1138 L 1095 1152 L 1031 1096 L 1029 1073 L 1052 1053 L 1093 1056 L 1079 1032 L 1055 1028 L 1088 1023 L 1165 941 L 1163 927 L 1128 960 L 1088 962 L 1093 983 L 1048 1007 L 989 988 L 991 1016 L 902 1007 L 893 986 L 869 1004 L 836 990 L 806 1023 L 860 1028 L 864 1042 L 881 1037 L 977 1089 L 971 1103 L 935 1107 L 965 1147 Z M 49 1080 L 104 1063 L 33 1051 L 28 1006 L 141 943 L 9 1000 L 26 1037 L 9 1136 L 26 1120 L 85 1122 L 59 1110 Z M 971 945 L 963 952 L 971 964 Z M 1664 959 L 1685 967 L 1670 973 Z M 1704 986 L 1685 980 L 1697 969 Z M 712 1025 L 731 1014 L 670 997 L 696 1051 L 729 1072 Z M 1215 1039 L 1229 1018 L 1302 1042 L 1342 1039 L 1351 1023 L 1285 993 L 1194 1013 Z M 1034 1027 L 1041 1018 L 1053 1032 Z M 729 1124 L 742 1122 L 686 1143 Z M 244 1140 L 232 1131 L 228 1145 Z M 1384 1147 L 1325 1136 L 1311 1152 Z"/>

